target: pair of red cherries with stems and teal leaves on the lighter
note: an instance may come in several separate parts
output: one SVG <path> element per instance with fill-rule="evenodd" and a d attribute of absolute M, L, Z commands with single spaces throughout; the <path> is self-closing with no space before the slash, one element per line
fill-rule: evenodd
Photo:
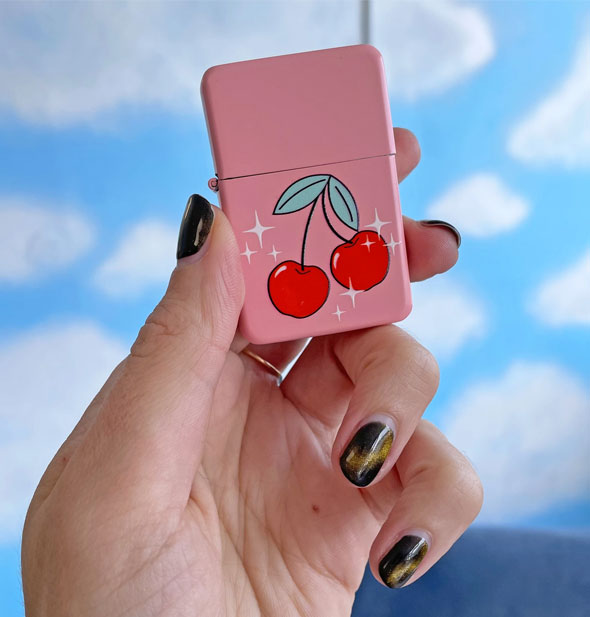
<path fill-rule="evenodd" d="M 356 232 L 350 240 L 334 229 L 328 217 L 327 202 L 334 215 Z M 280 196 L 273 214 L 291 214 L 310 208 L 301 242 L 301 260 L 283 261 L 272 270 L 268 277 L 268 294 L 279 312 L 298 319 L 317 312 L 330 293 L 326 273 L 317 265 L 305 263 L 307 233 L 318 204 L 332 233 L 343 241 L 332 252 L 330 270 L 334 279 L 349 290 L 343 295 L 351 295 L 353 308 L 354 295 L 381 283 L 389 270 L 388 245 L 378 232 L 359 231 L 354 197 L 340 180 L 329 174 L 297 180 Z M 338 309 L 339 320 L 344 312 Z"/>

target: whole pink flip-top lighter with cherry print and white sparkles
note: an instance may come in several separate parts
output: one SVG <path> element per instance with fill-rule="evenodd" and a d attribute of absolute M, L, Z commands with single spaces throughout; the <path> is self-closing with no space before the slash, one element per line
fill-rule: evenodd
<path fill-rule="evenodd" d="M 404 319 L 411 308 L 381 54 L 339 47 L 214 66 L 201 83 L 246 298 L 270 343 Z"/>

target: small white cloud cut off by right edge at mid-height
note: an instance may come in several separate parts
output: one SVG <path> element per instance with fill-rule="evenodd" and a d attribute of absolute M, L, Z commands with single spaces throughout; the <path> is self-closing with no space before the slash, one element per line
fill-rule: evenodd
<path fill-rule="evenodd" d="M 529 310 L 552 326 L 590 325 L 590 251 L 533 294 Z"/>

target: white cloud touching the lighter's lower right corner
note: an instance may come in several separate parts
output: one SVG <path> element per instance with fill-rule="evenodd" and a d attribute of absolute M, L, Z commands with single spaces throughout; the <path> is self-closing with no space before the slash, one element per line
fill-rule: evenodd
<path fill-rule="evenodd" d="M 412 285 L 414 308 L 402 327 L 435 356 L 455 354 L 487 331 L 482 302 L 448 277 Z"/>

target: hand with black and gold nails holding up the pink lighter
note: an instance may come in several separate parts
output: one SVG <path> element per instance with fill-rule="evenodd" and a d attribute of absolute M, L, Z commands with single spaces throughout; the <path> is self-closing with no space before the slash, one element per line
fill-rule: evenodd
<path fill-rule="evenodd" d="M 407 131 L 396 142 L 403 178 L 419 150 Z M 405 233 L 414 280 L 454 264 L 444 227 Z M 421 420 L 428 351 L 395 326 L 318 337 L 279 387 L 239 353 L 242 298 L 216 210 L 41 479 L 29 617 L 350 615 L 367 559 L 390 586 L 415 580 L 475 517 L 475 473 Z M 281 364 L 298 346 L 257 352 Z"/>

